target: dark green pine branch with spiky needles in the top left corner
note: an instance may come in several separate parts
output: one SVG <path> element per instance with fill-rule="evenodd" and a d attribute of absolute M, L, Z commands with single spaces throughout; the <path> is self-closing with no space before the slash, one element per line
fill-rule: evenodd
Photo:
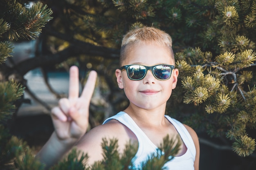
<path fill-rule="evenodd" d="M 1 8 L 2 19 L 8 24 L 8 38 L 18 40 L 19 38 L 35 39 L 41 32 L 41 28 L 52 19 L 52 10 L 41 2 L 33 4 L 31 8 L 16 2 L 7 0 Z"/>

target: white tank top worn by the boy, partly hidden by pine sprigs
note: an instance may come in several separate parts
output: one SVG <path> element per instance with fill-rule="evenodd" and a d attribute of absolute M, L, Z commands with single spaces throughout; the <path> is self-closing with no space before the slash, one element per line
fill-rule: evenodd
<path fill-rule="evenodd" d="M 191 135 L 185 126 L 167 115 L 166 119 L 173 124 L 179 133 L 182 141 L 187 147 L 187 151 L 184 155 L 180 157 L 174 157 L 171 161 L 168 161 L 164 166 L 168 170 L 194 170 L 194 161 L 195 161 L 195 144 Z M 127 126 L 137 137 L 139 148 L 135 157 L 133 158 L 133 163 L 135 167 L 140 167 L 143 161 L 146 161 L 148 157 L 152 154 L 157 154 L 157 146 L 153 144 L 152 141 L 147 137 L 147 135 L 139 128 L 139 126 L 133 121 L 133 119 L 125 112 L 119 112 L 117 115 L 114 115 L 106 119 L 103 124 L 106 124 L 111 119 L 116 119 L 125 126 Z"/>

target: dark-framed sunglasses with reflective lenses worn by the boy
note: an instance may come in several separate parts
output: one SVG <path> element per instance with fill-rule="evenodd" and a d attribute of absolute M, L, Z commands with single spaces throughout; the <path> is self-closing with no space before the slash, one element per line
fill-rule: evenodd
<path fill-rule="evenodd" d="M 171 73 L 172 73 L 172 70 L 174 69 L 174 66 L 166 65 L 166 64 L 159 64 L 155 66 L 131 64 L 131 65 L 121 66 L 121 68 L 119 69 L 121 71 L 125 69 L 129 79 L 131 80 L 143 79 L 147 74 L 148 70 L 151 70 L 151 72 L 153 73 L 156 79 L 166 80 L 171 77 Z"/>

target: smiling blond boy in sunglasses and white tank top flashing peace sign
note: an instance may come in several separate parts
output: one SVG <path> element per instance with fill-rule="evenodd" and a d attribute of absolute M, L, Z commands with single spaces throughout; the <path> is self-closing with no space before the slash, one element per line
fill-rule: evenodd
<path fill-rule="evenodd" d="M 91 71 L 79 97 L 78 68 L 71 67 L 69 98 L 61 99 L 59 106 L 52 109 L 55 131 L 36 157 L 52 166 L 76 144 L 88 153 L 91 164 L 103 159 L 101 142 L 106 137 L 118 139 L 120 151 L 129 141 L 138 143 L 134 161 L 139 166 L 156 152 L 166 135 L 178 135 L 182 139 L 180 150 L 165 166 L 171 170 L 198 170 L 199 142 L 195 131 L 164 115 L 166 102 L 177 84 L 179 72 L 174 64 L 172 40 L 167 33 L 153 27 L 128 32 L 121 45 L 121 68 L 115 74 L 130 104 L 87 133 L 97 74 Z"/>

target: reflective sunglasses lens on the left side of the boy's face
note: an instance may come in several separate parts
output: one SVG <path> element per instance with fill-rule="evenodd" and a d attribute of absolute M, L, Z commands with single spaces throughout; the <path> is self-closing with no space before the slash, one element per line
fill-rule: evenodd
<path fill-rule="evenodd" d="M 128 67 L 128 76 L 130 79 L 141 79 L 146 74 L 146 67 L 141 65 L 132 65 Z"/>

